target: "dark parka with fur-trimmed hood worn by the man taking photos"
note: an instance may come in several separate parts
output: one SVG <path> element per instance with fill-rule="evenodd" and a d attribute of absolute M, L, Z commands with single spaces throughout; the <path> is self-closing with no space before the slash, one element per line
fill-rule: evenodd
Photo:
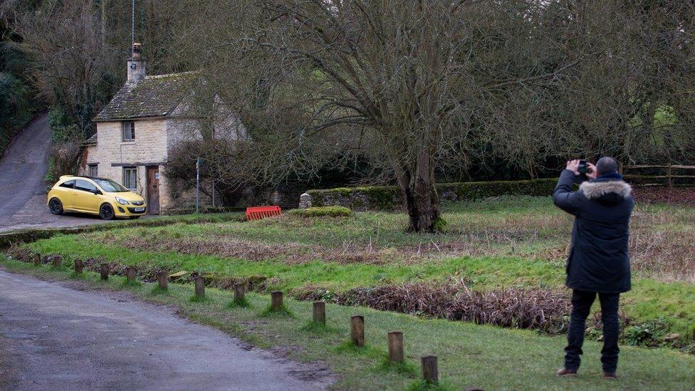
<path fill-rule="evenodd" d="M 574 172 L 564 170 L 553 192 L 555 205 L 575 216 L 567 286 L 579 291 L 627 292 L 632 189 L 617 173 L 582 182 L 578 192 L 572 191 L 574 180 Z"/>

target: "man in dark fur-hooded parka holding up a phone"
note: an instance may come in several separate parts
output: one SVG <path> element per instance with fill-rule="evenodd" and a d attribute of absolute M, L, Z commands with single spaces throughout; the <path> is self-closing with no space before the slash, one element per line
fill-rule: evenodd
<path fill-rule="evenodd" d="M 602 157 L 596 165 L 587 163 L 590 180 L 573 192 L 579 165 L 579 160 L 567 162 L 553 193 L 555 205 L 575 216 L 566 282 L 573 290 L 572 315 L 565 367 L 557 375 L 577 375 L 586 318 L 598 294 L 603 322 L 603 377 L 615 378 L 620 351 L 618 302 L 620 293 L 630 289 L 628 237 L 634 200 L 632 189 L 622 180 L 612 157 Z"/>

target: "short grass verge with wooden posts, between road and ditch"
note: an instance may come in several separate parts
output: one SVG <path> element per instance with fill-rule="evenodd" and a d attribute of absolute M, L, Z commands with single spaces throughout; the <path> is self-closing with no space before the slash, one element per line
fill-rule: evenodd
<path fill-rule="evenodd" d="M 6 269 L 68 279 L 69 271 L 35 268 L 17 261 L 1 262 Z M 99 283 L 98 274 L 85 272 L 83 279 L 106 290 L 127 290 L 144 301 L 176 306 L 181 316 L 214 326 L 260 347 L 285 347 L 299 361 L 327 363 L 338 375 L 336 389 L 425 390 L 416 373 L 384 367 L 387 332 L 404 333 L 407 367 L 419 368 L 422 355 L 437 355 L 441 383 L 439 389 L 461 390 L 685 390 L 695 382 L 695 356 L 669 349 L 623 347 L 617 381 L 600 378 L 600 343 L 587 340 L 580 376 L 558 379 L 554 372 L 562 365 L 563 336 L 548 337 L 528 330 L 507 330 L 486 325 L 446 320 L 427 320 L 399 313 L 374 311 L 328 304 L 327 323 L 332 329 L 316 333 L 305 326 L 312 304 L 285 298 L 293 317 L 258 316 L 257 311 L 229 307 L 233 292 L 208 288 L 206 303 L 189 300 L 192 284 L 169 284 L 167 295 L 152 296 L 152 283 L 124 286 L 125 278 L 113 276 Z M 254 292 L 244 296 L 254 308 L 266 308 L 269 295 Z M 349 319 L 365 316 L 365 348 L 352 348 Z"/>

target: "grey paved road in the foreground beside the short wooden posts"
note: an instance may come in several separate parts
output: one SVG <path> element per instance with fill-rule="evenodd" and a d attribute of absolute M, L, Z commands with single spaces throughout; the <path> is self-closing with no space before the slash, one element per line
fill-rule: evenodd
<path fill-rule="evenodd" d="M 325 388 L 330 374 L 308 367 L 125 293 L 0 269 L 0 390 Z"/>

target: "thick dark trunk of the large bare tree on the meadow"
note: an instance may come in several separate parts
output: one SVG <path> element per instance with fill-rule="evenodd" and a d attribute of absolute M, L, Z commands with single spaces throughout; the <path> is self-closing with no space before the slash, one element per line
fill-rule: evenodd
<path fill-rule="evenodd" d="M 439 196 L 434 188 L 434 157 L 419 152 L 414 167 L 397 167 L 398 186 L 410 219 L 408 231 L 440 229 Z"/>

